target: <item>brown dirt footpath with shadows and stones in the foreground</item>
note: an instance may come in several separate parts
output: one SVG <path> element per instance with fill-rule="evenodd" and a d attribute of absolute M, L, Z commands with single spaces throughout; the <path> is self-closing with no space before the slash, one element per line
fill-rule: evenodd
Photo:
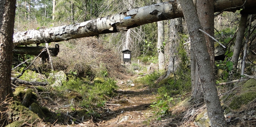
<path fill-rule="evenodd" d="M 129 81 L 129 80 L 128 80 Z M 124 83 L 123 83 L 124 82 Z M 110 99 L 105 105 L 107 112 L 98 123 L 104 127 L 141 127 L 147 125 L 153 116 L 150 104 L 156 99 L 155 89 L 142 88 L 141 85 L 127 85 L 126 81 L 118 81 L 118 96 Z"/>

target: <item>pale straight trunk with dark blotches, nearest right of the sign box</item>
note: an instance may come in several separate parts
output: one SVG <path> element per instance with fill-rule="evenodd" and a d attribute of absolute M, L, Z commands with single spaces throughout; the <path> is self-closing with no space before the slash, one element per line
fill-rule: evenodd
<path fill-rule="evenodd" d="M 163 2 L 162 0 L 157 0 L 157 3 Z M 157 22 L 158 28 L 158 39 L 157 39 L 157 53 L 158 53 L 158 65 L 159 70 L 165 69 L 165 59 L 164 59 L 164 21 Z"/>

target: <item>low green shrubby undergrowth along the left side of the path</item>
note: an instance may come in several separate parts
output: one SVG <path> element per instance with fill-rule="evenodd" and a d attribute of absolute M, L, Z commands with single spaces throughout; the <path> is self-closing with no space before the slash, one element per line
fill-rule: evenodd
<path fill-rule="evenodd" d="M 78 100 L 81 106 L 93 106 L 106 100 L 108 96 L 114 96 L 113 91 L 118 88 L 115 80 L 104 80 L 102 83 L 91 83 L 88 79 L 70 77 L 69 80 L 62 82 L 62 86 L 56 87 L 56 90 L 65 98 Z"/>

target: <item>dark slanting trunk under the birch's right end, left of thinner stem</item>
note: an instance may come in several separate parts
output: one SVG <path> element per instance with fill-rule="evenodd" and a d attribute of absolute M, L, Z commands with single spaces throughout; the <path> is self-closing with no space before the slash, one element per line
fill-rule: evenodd
<path fill-rule="evenodd" d="M 236 34 L 236 42 L 235 42 L 235 46 L 234 46 L 234 51 L 233 51 L 233 55 L 231 58 L 231 61 L 233 62 L 234 69 L 237 68 L 237 63 L 238 63 L 238 59 L 239 59 L 239 55 L 240 55 L 240 51 L 241 51 L 241 46 L 242 46 L 242 42 L 244 39 L 247 18 L 248 18 L 248 14 L 245 14 L 245 15 L 242 14 L 241 18 L 240 18 L 238 31 Z"/>

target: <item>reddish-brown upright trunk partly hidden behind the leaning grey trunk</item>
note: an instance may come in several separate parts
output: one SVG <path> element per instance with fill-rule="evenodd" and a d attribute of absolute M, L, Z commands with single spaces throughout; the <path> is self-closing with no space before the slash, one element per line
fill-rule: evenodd
<path fill-rule="evenodd" d="M 206 4 L 207 3 L 207 4 Z M 214 35 L 214 1 L 213 0 L 197 0 L 197 14 L 200 23 L 203 27 L 203 31 L 209 35 Z M 210 55 L 211 66 L 214 68 L 214 40 L 208 35 L 204 35 L 208 53 Z M 194 58 L 193 48 L 191 48 L 191 86 L 192 86 L 192 100 L 199 104 L 203 101 L 203 92 L 199 81 L 199 68 Z M 213 69 L 214 70 L 214 69 Z M 214 71 L 213 71 L 214 72 Z"/>

